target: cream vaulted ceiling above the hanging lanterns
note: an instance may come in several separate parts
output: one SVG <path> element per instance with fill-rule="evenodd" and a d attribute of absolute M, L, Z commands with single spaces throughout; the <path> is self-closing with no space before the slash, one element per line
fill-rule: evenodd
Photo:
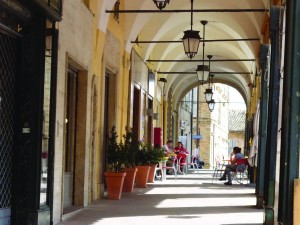
<path fill-rule="evenodd" d="M 112 9 L 112 0 L 104 0 L 101 14 L 106 9 Z M 246 104 L 250 100 L 248 83 L 252 82 L 262 39 L 262 29 L 265 23 L 268 0 L 194 0 L 194 10 L 217 9 L 219 12 L 194 12 L 193 30 L 200 31 L 203 38 L 203 25 L 201 20 L 207 20 L 206 40 L 215 39 L 249 39 L 246 41 L 213 41 L 205 43 L 206 55 L 213 55 L 213 60 L 224 59 L 254 59 L 255 61 L 219 61 L 211 62 L 211 71 L 236 72 L 236 74 L 217 73 L 215 82 L 235 87 L 244 97 Z M 153 0 L 124 0 L 121 10 L 156 10 Z M 164 10 L 190 10 L 190 0 L 170 0 L 170 3 L 161 13 L 126 13 L 125 16 L 125 43 L 126 51 L 130 52 L 132 41 L 180 41 L 183 31 L 190 30 L 190 12 L 164 12 Z M 234 12 L 220 12 L 232 9 Z M 238 12 L 247 9 L 249 12 Z M 260 9 L 260 11 L 251 11 Z M 158 9 L 157 9 L 158 10 Z M 103 22 L 103 21 L 102 21 Z M 101 25 L 100 25 L 101 26 Z M 184 60 L 189 59 L 184 54 L 183 44 L 173 43 L 139 43 L 142 49 L 141 57 L 147 60 Z M 202 43 L 198 54 L 193 60 L 202 59 Z M 199 62 L 151 62 L 155 71 L 161 72 L 194 72 Z M 249 72 L 241 74 L 239 72 Z M 160 74 L 167 79 L 166 91 L 172 89 L 175 101 L 199 84 L 198 78 L 193 74 Z M 171 88 L 172 87 L 172 88 Z"/>

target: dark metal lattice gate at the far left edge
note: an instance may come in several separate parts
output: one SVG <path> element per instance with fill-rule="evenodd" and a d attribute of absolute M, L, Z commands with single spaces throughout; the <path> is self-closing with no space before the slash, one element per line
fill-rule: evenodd
<path fill-rule="evenodd" d="M 0 225 L 10 224 L 16 40 L 0 30 Z"/>

